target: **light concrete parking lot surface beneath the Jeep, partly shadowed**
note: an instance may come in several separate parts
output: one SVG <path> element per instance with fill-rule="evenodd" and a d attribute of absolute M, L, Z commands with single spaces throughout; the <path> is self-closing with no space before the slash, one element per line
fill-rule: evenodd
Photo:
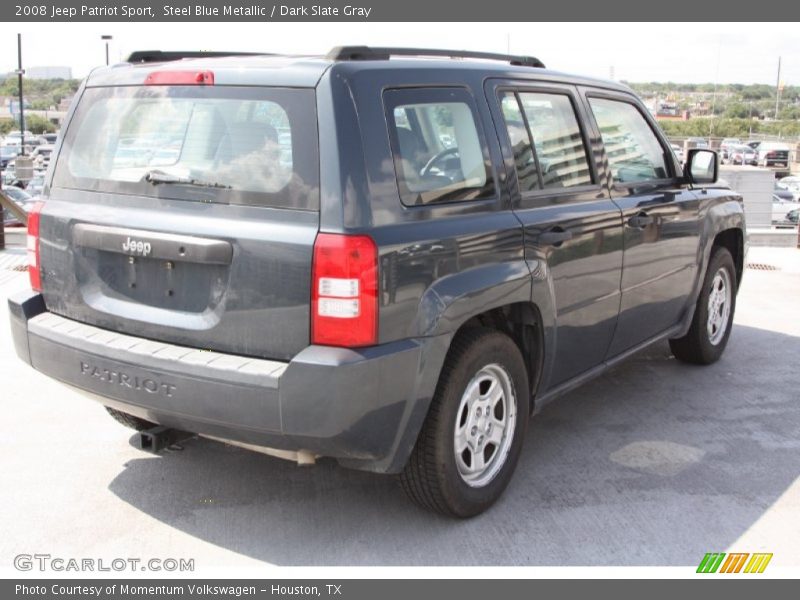
<path fill-rule="evenodd" d="M 706 552 L 800 564 L 800 250 L 753 248 L 722 360 L 666 343 L 546 407 L 515 478 L 469 521 L 389 477 L 208 440 L 152 456 L 102 408 L 14 355 L 0 252 L 0 567 L 19 553 L 276 565 L 696 565 Z M 5 265 L 5 266 L 4 266 Z M 224 399 L 221 399 L 223 401 Z"/>

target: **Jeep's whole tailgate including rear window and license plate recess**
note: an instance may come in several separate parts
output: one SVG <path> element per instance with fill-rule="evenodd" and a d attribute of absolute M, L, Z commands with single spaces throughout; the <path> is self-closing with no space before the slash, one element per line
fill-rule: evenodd
<path fill-rule="evenodd" d="M 103 329 L 290 359 L 319 229 L 313 90 L 87 88 L 41 213 L 45 303 Z"/>

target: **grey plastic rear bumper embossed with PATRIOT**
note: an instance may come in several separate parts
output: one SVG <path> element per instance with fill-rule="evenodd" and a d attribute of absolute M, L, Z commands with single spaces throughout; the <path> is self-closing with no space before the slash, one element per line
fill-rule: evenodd
<path fill-rule="evenodd" d="M 447 336 L 348 350 L 309 346 L 290 362 L 174 346 L 9 300 L 17 354 L 99 402 L 168 427 L 345 466 L 398 472 L 427 414 Z"/>

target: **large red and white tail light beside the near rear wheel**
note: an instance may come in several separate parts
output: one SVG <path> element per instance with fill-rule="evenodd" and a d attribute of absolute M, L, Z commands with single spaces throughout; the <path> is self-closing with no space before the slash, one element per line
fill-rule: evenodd
<path fill-rule="evenodd" d="M 317 235 L 312 285 L 312 344 L 378 343 L 378 249 L 372 238 Z"/>

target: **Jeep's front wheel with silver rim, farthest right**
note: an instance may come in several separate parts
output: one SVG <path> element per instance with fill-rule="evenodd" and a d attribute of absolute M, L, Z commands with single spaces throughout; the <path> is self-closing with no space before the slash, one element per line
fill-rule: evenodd
<path fill-rule="evenodd" d="M 719 360 L 731 335 L 736 291 L 733 257 L 726 248 L 715 246 L 697 298 L 692 326 L 685 336 L 669 341 L 675 358 L 695 365 L 710 365 Z"/>

